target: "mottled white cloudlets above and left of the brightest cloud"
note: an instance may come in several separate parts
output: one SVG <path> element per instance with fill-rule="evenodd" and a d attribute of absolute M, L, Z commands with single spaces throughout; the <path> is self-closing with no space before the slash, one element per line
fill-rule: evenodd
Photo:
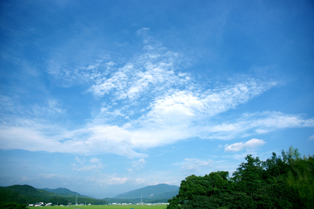
<path fill-rule="evenodd" d="M 112 94 L 113 99 L 135 99 L 143 94 L 150 95 L 151 91 L 163 92 L 171 86 L 186 83 L 186 79 L 179 78 L 174 72 L 176 62 L 179 62 L 179 56 L 172 51 L 143 53 L 108 78 L 95 79 L 89 91 L 97 97 Z"/>

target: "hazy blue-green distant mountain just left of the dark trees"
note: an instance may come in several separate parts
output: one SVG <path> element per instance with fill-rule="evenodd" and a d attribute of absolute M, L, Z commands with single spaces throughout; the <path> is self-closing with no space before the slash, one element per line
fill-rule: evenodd
<path fill-rule="evenodd" d="M 136 199 L 136 198 L 171 198 L 178 194 L 179 187 L 175 185 L 158 184 L 146 186 L 137 190 L 129 191 L 127 193 L 118 195 L 114 198 L 120 199 Z M 172 195 L 172 196 L 169 196 Z"/>

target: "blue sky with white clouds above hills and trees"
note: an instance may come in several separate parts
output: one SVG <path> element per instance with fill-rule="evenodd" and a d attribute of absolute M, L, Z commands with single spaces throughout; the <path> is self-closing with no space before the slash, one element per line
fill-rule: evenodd
<path fill-rule="evenodd" d="M 0 185 L 105 198 L 314 154 L 312 1 L 1 1 Z"/>

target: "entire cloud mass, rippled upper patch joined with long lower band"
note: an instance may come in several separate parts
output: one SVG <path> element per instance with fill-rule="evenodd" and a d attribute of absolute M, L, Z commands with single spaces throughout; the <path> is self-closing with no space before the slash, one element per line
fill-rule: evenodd
<path fill-rule="evenodd" d="M 247 76 L 211 86 L 208 81 L 195 82 L 192 72 L 184 72 L 184 56 L 153 43 L 145 35 L 147 31 L 138 33 L 147 47 L 127 62 L 106 57 L 93 63 L 82 62 L 75 68 L 60 63 L 63 59 L 48 62 L 53 80 L 70 86 L 84 84 L 84 94 L 92 94 L 101 103 L 80 127 L 65 127 L 53 120 L 68 112 L 57 99 L 25 107 L 18 99 L 2 96 L 0 148 L 35 151 L 49 147 L 48 152 L 106 152 L 145 158 L 147 154 L 136 150 L 190 137 L 230 140 L 282 128 L 314 127 L 314 119 L 306 119 L 305 115 L 275 111 L 243 113 L 229 121 L 213 120 L 280 82 Z"/>

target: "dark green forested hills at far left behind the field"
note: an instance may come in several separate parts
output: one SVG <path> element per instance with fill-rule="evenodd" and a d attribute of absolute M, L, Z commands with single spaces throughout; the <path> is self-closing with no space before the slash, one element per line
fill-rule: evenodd
<path fill-rule="evenodd" d="M 37 202 L 51 202 L 52 205 L 57 205 L 57 203 L 59 205 L 68 205 L 75 203 L 76 194 L 65 196 L 43 189 L 35 189 L 30 185 L 12 185 L 7 187 L 0 187 L 0 203 L 3 204 L 13 202 L 17 204 L 35 204 Z M 90 203 L 93 205 L 103 205 L 107 203 L 105 200 L 97 200 L 80 195 L 78 197 L 78 204 L 85 204 L 85 202 L 86 204 Z"/>

